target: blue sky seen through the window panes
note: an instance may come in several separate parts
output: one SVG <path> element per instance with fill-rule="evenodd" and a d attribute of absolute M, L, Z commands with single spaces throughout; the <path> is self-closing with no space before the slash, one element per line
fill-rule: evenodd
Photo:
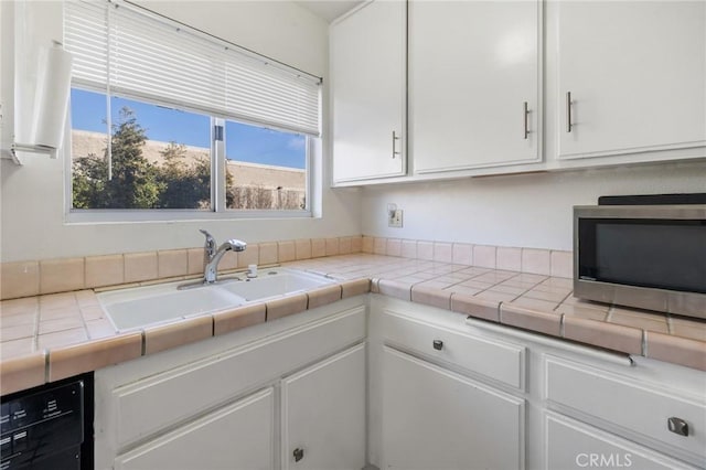
<path fill-rule="evenodd" d="M 114 124 L 118 122 L 118 113 L 124 106 L 135 111 L 137 121 L 146 129 L 150 140 L 210 147 L 211 119 L 208 116 L 113 97 L 110 108 Z M 105 95 L 73 88 L 71 111 L 74 129 L 106 131 Z M 227 121 L 225 139 L 226 156 L 229 160 L 304 168 L 306 138 L 303 136 Z"/>

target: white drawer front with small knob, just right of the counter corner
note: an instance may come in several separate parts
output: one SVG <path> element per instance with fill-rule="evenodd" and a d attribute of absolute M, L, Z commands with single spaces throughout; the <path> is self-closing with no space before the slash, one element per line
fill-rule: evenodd
<path fill-rule="evenodd" d="M 524 389 L 525 348 L 459 333 L 386 310 L 385 342 Z"/>

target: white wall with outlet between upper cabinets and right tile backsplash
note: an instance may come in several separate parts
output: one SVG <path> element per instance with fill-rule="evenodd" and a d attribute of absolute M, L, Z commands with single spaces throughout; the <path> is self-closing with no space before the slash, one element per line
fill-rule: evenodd
<path fill-rule="evenodd" d="M 631 165 L 368 188 L 363 233 L 381 237 L 573 249 L 571 207 L 599 195 L 706 192 L 706 162 Z M 387 226 L 387 203 L 404 227 Z"/>

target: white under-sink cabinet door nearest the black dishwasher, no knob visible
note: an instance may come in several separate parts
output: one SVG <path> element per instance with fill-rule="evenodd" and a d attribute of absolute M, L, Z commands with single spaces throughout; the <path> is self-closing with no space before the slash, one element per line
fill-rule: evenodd
<path fill-rule="evenodd" d="M 117 470 L 248 469 L 274 466 L 274 391 L 267 388 L 115 459 Z"/>

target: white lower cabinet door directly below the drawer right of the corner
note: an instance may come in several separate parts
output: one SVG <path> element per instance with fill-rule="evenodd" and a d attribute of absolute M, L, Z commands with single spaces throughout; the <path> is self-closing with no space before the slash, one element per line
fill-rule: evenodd
<path fill-rule="evenodd" d="M 389 348 L 383 352 L 385 469 L 521 469 L 524 400 Z"/>

